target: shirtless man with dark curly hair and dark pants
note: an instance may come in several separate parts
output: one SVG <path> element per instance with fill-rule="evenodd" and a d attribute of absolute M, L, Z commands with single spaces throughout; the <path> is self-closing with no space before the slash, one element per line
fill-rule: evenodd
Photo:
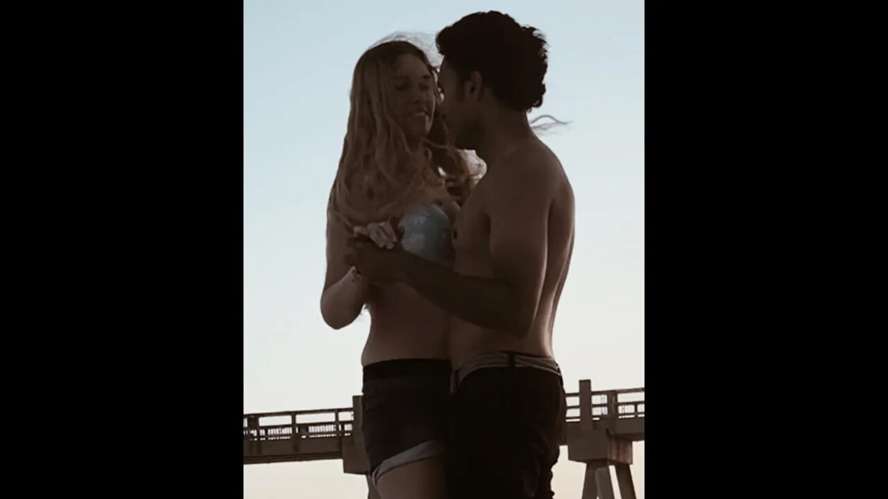
<path fill-rule="evenodd" d="M 448 495 L 551 498 L 566 416 L 552 323 L 574 247 L 574 194 L 527 122 L 543 103 L 545 42 L 505 14 L 479 12 L 437 44 L 449 132 L 488 165 L 456 218 L 453 270 L 360 242 L 352 261 L 452 314 Z"/>

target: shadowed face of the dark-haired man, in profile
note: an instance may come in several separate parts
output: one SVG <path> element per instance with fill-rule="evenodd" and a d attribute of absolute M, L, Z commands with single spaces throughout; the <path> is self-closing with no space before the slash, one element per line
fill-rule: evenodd
<path fill-rule="evenodd" d="M 471 96 L 466 94 L 466 82 L 450 67 L 447 59 L 441 64 L 438 86 L 443 96 L 440 112 L 444 114 L 450 139 L 456 147 L 473 149 L 477 138 L 477 104 L 468 99 Z"/>

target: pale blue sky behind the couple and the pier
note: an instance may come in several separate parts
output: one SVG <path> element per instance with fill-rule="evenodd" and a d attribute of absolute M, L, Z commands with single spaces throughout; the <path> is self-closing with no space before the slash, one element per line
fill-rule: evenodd
<path fill-rule="evenodd" d="M 319 308 L 324 210 L 354 64 L 393 32 L 431 37 L 488 10 L 546 36 L 547 91 L 531 116 L 572 123 L 543 136 L 576 197 L 574 261 L 554 334 L 567 391 L 580 379 L 593 390 L 645 385 L 642 1 L 245 0 L 244 412 L 347 407 L 361 393 L 369 319 L 334 331 Z M 556 497 L 579 498 L 583 464 L 561 450 Z M 644 461 L 637 443 L 632 472 L 642 499 Z M 244 466 L 243 481 L 245 499 L 366 497 L 364 479 L 343 473 L 340 461 Z"/>

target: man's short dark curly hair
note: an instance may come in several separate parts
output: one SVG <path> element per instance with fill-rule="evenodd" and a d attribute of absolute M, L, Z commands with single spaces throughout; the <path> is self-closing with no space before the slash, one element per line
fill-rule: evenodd
<path fill-rule="evenodd" d="M 476 12 L 444 28 L 438 51 L 462 80 L 478 71 L 503 104 L 519 111 L 543 105 L 549 67 L 546 41 L 532 26 L 503 12 Z"/>

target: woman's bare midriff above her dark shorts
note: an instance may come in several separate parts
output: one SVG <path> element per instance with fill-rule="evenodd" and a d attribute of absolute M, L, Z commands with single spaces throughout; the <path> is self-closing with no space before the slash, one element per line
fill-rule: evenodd
<path fill-rule="evenodd" d="M 361 364 L 394 359 L 448 360 L 448 314 L 400 283 L 377 290 Z"/>

